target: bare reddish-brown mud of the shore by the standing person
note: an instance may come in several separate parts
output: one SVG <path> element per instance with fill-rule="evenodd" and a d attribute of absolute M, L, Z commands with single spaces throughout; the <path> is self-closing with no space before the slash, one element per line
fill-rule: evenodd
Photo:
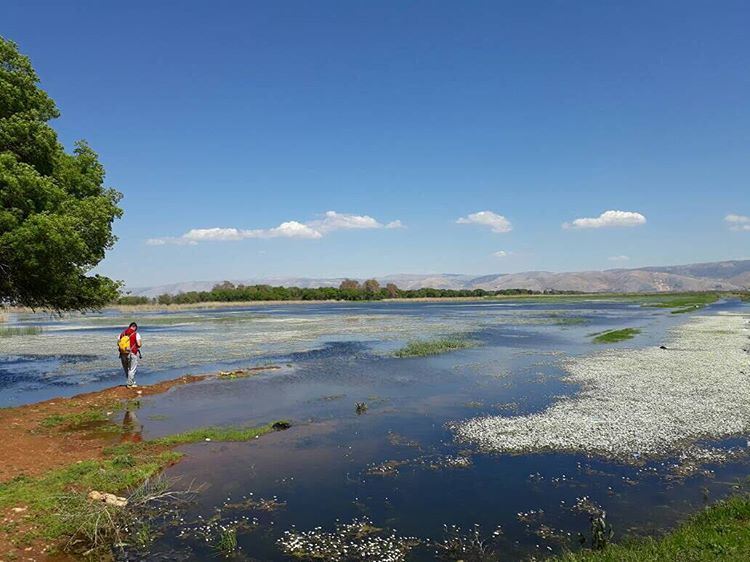
<path fill-rule="evenodd" d="M 127 426 L 130 410 L 139 400 L 167 393 L 175 388 L 211 379 L 242 378 L 276 366 L 247 368 L 232 372 L 186 375 L 147 386 L 124 385 L 78 394 L 69 398 L 52 398 L 43 402 L 0 409 L 0 486 L 14 482 L 43 479 L 70 467 L 90 462 L 107 462 L 108 449 L 143 442 L 140 432 Z M 123 417 L 122 425 L 116 421 Z M 270 426 L 269 426 L 270 429 Z M 274 426 L 273 429 L 276 429 Z M 265 431 L 265 430 L 261 430 Z M 185 442 L 189 441 L 185 439 Z M 153 442 L 158 454 L 181 444 Z M 167 462 L 177 462 L 178 457 Z M 57 471 L 57 472 L 56 472 Z M 115 490 L 116 491 L 116 490 Z M 120 490 L 121 491 L 121 490 Z M 84 490 L 86 492 L 86 490 Z M 33 498 L 29 498 L 31 500 Z M 0 509 L 0 560 L 74 560 L 59 550 L 56 541 L 43 538 L 35 528 L 37 514 L 29 503 L 4 505 Z"/>

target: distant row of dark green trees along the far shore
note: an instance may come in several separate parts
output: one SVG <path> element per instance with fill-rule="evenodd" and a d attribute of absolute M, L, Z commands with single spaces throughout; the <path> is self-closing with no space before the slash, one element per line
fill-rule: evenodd
<path fill-rule="evenodd" d="M 201 302 L 246 301 L 368 301 L 382 299 L 492 297 L 498 295 L 573 294 L 572 291 L 532 291 L 530 289 L 399 289 L 393 283 L 381 287 L 375 279 L 364 283 L 346 279 L 338 287 L 273 287 L 271 285 L 235 285 L 229 281 L 210 291 L 188 291 L 156 298 L 123 296 L 118 304 L 197 304 Z"/>

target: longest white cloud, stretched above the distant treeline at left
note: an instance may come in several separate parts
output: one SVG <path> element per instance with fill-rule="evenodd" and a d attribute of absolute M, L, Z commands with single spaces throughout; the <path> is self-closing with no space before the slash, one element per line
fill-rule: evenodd
<path fill-rule="evenodd" d="M 302 238 L 313 240 L 323 238 L 326 234 L 336 230 L 376 229 L 376 228 L 404 228 L 401 221 L 391 221 L 382 224 L 367 215 L 350 215 L 328 211 L 322 219 L 306 223 L 286 221 L 273 228 L 193 228 L 178 237 L 151 238 L 146 241 L 150 246 L 164 244 L 197 244 L 213 241 L 225 242 L 245 240 L 247 238 Z"/>

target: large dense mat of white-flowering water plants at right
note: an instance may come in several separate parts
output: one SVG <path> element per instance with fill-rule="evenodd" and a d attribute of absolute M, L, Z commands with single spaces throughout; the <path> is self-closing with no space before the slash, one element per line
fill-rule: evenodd
<path fill-rule="evenodd" d="M 696 317 L 673 329 L 667 351 L 610 349 L 568 360 L 565 380 L 583 391 L 541 412 L 450 427 L 460 441 L 489 451 L 574 451 L 628 463 L 664 458 L 698 439 L 750 429 L 750 394 L 737 391 L 747 385 L 747 337 L 742 314 Z"/>

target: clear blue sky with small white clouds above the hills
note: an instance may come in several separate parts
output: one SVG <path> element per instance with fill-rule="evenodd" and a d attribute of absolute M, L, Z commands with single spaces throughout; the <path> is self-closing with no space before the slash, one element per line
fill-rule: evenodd
<path fill-rule="evenodd" d="M 0 10 L 130 286 L 750 258 L 747 2 Z"/>

